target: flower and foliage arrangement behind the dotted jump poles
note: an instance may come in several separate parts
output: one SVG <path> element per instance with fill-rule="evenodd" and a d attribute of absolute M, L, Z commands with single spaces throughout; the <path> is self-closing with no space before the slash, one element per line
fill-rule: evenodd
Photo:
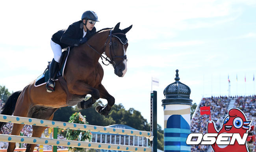
<path fill-rule="evenodd" d="M 76 112 L 72 114 L 69 118 L 69 123 L 79 123 L 79 124 L 85 124 L 88 125 L 88 122 L 85 120 L 86 116 L 81 115 L 80 112 Z M 62 130 L 63 132 L 64 130 Z M 67 129 L 67 134 L 66 134 L 67 140 L 74 140 L 74 141 L 85 141 L 88 139 L 89 141 L 92 138 L 91 132 L 88 131 L 83 131 L 83 130 L 72 130 L 72 129 Z M 70 151 L 82 151 L 84 148 L 78 148 L 78 147 L 69 147 Z"/>

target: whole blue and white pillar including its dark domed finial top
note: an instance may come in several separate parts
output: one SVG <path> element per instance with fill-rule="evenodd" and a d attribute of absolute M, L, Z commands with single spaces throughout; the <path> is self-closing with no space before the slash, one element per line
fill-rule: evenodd
<path fill-rule="evenodd" d="M 165 99 L 162 100 L 164 110 L 164 151 L 190 152 L 190 145 L 186 144 L 190 134 L 190 107 L 191 90 L 181 83 L 176 70 L 175 82 L 169 84 L 163 91 Z"/>

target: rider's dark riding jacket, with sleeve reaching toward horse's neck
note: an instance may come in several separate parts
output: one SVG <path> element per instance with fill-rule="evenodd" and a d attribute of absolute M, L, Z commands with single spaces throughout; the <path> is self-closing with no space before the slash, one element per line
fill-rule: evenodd
<path fill-rule="evenodd" d="M 94 33 L 96 33 L 95 27 L 91 31 L 87 30 L 85 37 L 89 38 Z M 59 44 L 62 49 L 68 46 L 78 46 L 80 38 L 83 38 L 82 20 L 74 22 L 67 29 L 61 29 L 52 35 L 52 41 Z"/>

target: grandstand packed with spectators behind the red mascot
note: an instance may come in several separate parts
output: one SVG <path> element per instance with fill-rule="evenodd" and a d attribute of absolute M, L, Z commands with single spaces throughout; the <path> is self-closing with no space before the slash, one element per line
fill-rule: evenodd
<path fill-rule="evenodd" d="M 228 114 L 230 108 L 241 109 L 247 119 L 252 120 L 252 124 L 256 126 L 256 95 L 246 97 L 210 97 L 202 98 L 198 104 L 193 117 L 191 119 L 191 133 L 206 133 L 206 126 L 210 120 L 209 115 L 200 115 L 200 107 L 210 106 L 211 107 L 211 120 L 216 124 L 217 130 L 222 127 L 223 119 Z M 252 130 L 252 134 L 255 134 L 255 129 Z M 256 152 L 255 142 L 250 145 L 251 150 Z M 210 145 L 192 145 L 191 152 L 211 152 Z"/>

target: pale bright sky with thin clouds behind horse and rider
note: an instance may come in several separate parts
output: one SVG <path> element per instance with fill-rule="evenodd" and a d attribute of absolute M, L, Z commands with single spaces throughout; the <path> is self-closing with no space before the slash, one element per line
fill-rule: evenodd
<path fill-rule="evenodd" d="M 148 123 L 152 77 L 160 80 L 152 88 L 163 128 L 163 90 L 174 82 L 176 69 L 180 82 L 191 88 L 193 103 L 228 95 L 228 76 L 231 95 L 255 94 L 255 0 L 9 0 L 0 5 L 0 85 L 10 92 L 43 73 L 53 58 L 52 35 L 92 10 L 100 21 L 97 30 L 118 22 L 121 29 L 133 25 L 126 34 L 126 75 L 103 66 L 102 84 L 116 104 L 139 110 Z"/>

